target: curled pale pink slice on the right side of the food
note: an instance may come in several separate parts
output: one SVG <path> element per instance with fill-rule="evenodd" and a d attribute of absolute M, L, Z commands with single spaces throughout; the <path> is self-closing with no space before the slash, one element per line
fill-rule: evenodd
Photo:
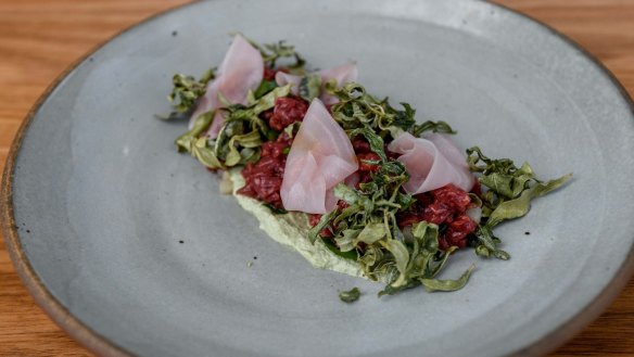
<path fill-rule="evenodd" d="M 416 138 L 404 132 L 388 145 L 388 150 L 402 154 L 397 160 L 410 176 L 403 186 L 409 193 L 428 192 L 449 183 L 465 191 L 473 187 L 474 178 L 466 156 L 445 135 Z"/>

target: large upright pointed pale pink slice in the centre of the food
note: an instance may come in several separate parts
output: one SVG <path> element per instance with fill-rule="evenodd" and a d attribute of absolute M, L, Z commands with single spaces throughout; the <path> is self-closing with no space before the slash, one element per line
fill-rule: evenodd
<path fill-rule="evenodd" d="M 288 211 L 325 214 L 337 200 L 332 188 L 358 169 L 350 139 L 320 100 L 310 103 L 293 140 L 280 190 Z"/>

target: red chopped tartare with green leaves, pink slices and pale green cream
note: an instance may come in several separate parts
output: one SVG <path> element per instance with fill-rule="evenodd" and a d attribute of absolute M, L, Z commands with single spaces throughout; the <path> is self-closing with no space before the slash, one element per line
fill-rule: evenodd
<path fill-rule="evenodd" d="M 236 35 L 217 68 L 173 80 L 169 118 L 189 118 L 178 150 L 224 171 L 223 191 L 274 240 L 315 267 L 385 283 L 379 295 L 462 288 L 473 266 L 439 279 L 449 257 L 471 247 L 508 259 L 493 228 L 571 178 L 538 180 L 478 146 L 465 154 L 448 124 L 366 91 L 355 63 L 307 71 L 283 41 Z"/>

